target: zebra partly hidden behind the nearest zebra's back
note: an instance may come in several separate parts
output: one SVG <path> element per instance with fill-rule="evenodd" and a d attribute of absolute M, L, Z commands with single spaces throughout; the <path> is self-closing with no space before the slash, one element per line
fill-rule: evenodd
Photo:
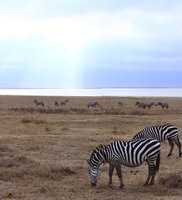
<path fill-rule="evenodd" d="M 133 139 L 140 139 L 144 137 L 151 137 L 157 139 L 159 142 L 163 142 L 166 139 L 171 147 L 168 156 L 172 155 L 174 143 L 178 146 L 179 157 L 181 156 L 181 143 L 178 137 L 178 129 L 172 124 L 165 124 L 161 126 L 148 126 L 142 131 L 137 133 Z"/>

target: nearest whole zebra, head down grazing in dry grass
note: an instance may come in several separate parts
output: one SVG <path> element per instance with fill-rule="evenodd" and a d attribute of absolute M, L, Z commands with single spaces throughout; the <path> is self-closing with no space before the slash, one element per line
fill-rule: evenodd
<path fill-rule="evenodd" d="M 124 186 L 121 173 L 121 164 L 128 167 L 137 167 L 144 163 L 148 164 L 148 177 L 144 185 L 154 184 L 156 171 L 160 165 L 160 143 L 153 138 L 140 140 L 114 141 L 107 146 L 97 147 L 89 160 L 88 169 L 91 185 L 96 186 L 100 176 L 99 167 L 102 163 L 109 163 L 109 183 L 112 184 L 114 167 L 120 179 L 120 188 Z M 155 164 L 156 161 L 156 164 Z"/>

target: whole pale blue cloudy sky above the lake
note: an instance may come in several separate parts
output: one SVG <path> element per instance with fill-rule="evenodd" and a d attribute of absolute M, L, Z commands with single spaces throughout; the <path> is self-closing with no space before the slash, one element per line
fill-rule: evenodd
<path fill-rule="evenodd" d="M 0 88 L 182 87 L 181 0 L 0 0 Z"/>

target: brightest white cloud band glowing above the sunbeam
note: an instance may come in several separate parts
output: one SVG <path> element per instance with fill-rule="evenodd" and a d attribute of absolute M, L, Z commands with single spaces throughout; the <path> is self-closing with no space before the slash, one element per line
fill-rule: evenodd
<path fill-rule="evenodd" d="M 129 20 L 104 13 L 32 21 L 1 15 L 0 27 L 0 39 L 26 40 L 40 36 L 45 42 L 73 49 L 94 40 L 129 38 L 135 34 Z"/>

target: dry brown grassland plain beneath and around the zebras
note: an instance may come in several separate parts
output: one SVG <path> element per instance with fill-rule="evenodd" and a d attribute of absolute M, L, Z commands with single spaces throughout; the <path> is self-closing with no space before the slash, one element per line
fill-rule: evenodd
<path fill-rule="evenodd" d="M 167 157 L 167 141 L 161 144 L 160 169 L 149 187 L 143 186 L 145 163 L 121 167 L 122 190 L 116 171 L 110 186 L 108 164 L 101 165 L 92 187 L 86 162 L 98 145 L 129 140 L 146 126 L 174 124 L 182 142 L 182 98 L 69 97 L 61 106 L 66 98 L 0 96 L 0 199 L 182 199 L 182 158 L 176 145 Z M 36 106 L 34 99 L 45 106 Z M 95 101 L 100 105 L 87 107 Z M 137 108 L 137 101 L 168 103 L 169 108 Z"/>

